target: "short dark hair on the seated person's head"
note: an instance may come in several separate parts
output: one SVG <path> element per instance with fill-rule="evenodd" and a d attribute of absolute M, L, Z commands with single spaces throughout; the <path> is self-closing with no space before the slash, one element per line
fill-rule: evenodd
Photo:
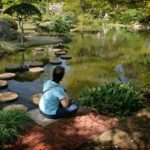
<path fill-rule="evenodd" d="M 53 70 L 53 81 L 59 83 L 63 76 L 65 74 L 65 68 L 62 66 L 57 66 L 54 70 Z"/>

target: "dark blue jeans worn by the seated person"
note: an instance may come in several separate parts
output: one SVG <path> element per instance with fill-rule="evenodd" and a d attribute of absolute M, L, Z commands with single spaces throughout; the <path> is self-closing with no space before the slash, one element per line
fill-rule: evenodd
<path fill-rule="evenodd" d="M 65 117 L 70 117 L 70 116 L 74 115 L 77 112 L 78 108 L 79 108 L 79 105 L 76 102 L 71 102 L 67 108 L 64 108 L 60 103 L 60 105 L 56 111 L 56 115 L 47 115 L 47 114 L 43 113 L 41 110 L 40 110 L 40 113 L 45 118 L 58 119 L 58 118 L 65 118 Z"/>

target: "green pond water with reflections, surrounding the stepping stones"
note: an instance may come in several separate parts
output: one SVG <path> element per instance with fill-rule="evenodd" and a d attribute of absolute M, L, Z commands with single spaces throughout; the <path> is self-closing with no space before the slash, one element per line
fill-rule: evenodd
<path fill-rule="evenodd" d="M 137 87 L 150 84 L 150 34 L 128 32 L 126 30 L 104 29 L 95 34 L 72 34 L 72 42 L 66 44 L 70 60 L 62 60 L 66 69 L 61 84 L 68 94 L 75 98 L 85 87 L 102 85 L 106 82 L 132 81 Z M 28 64 L 31 61 L 47 62 L 54 54 L 52 45 L 42 46 L 45 52 L 33 53 L 33 48 L 25 52 L 0 58 L 0 72 L 9 64 Z M 42 91 L 43 83 L 51 78 L 55 65 L 46 64 L 44 73 L 18 73 L 16 79 L 9 80 L 7 89 L 19 94 L 17 102 L 25 103 L 29 108 L 31 96 Z"/>

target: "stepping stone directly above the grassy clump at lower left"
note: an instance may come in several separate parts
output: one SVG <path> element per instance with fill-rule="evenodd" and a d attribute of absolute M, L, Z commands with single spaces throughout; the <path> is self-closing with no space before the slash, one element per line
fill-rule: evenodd
<path fill-rule="evenodd" d="M 27 112 L 28 111 L 28 107 L 22 104 L 14 104 L 14 105 L 9 105 L 9 106 L 5 106 L 3 107 L 3 110 L 15 110 L 15 109 L 19 109 L 22 111 Z"/>

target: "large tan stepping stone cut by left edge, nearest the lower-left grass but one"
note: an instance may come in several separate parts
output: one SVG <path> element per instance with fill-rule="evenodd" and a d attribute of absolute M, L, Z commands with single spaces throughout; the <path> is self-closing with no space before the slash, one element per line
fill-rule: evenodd
<path fill-rule="evenodd" d="M 18 94 L 13 92 L 3 92 L 0 93 L 0 102 L 10 102 L 18 98 Z"/>

